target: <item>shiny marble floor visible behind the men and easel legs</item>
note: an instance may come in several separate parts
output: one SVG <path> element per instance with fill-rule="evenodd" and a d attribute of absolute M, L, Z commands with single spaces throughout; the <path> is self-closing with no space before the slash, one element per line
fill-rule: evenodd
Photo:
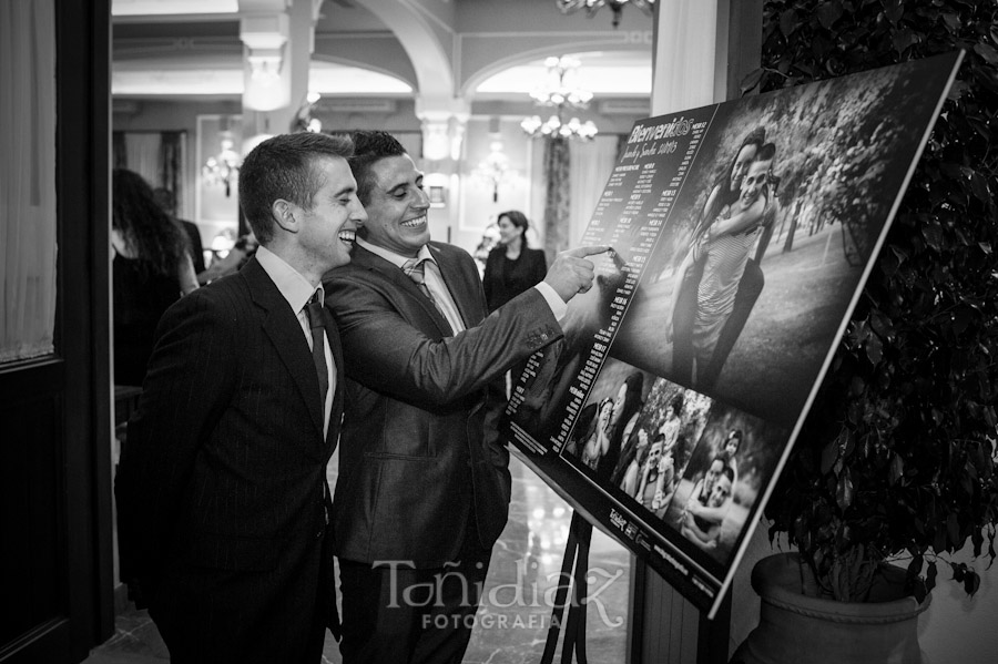
<path fill-rule="evenodd" d="M 466 664 L 538 662 L 551 623 L 554 584 L 561 572 L 572 511 L 516 458 L 509 523 L 496 544 Z M 330 463 L 330 486 L 336 464 Z M 630 554 L 599 530 L 590 549 L 585 650 L 591 662 L 627 661 Z M 115 633 L 84 664 L 156 664 L 170 654 L 145 611 L 130 606 Z M 327 634 L 324 663 L 342 661 Z M 560 661 L 557 655 L 556 661 Z"/>

